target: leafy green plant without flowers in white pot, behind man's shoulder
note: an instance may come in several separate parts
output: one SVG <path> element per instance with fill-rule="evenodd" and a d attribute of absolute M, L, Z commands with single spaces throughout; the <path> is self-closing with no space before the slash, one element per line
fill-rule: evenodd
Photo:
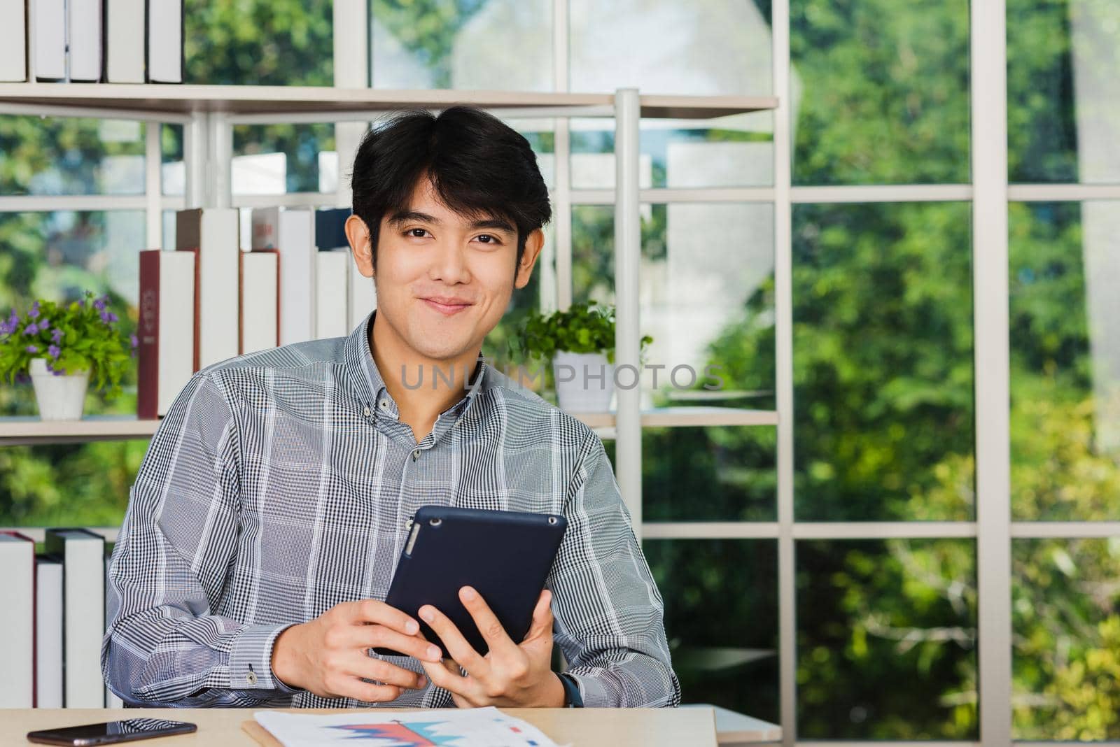
<path fill-rule="evenodd" d="M 653 338 L 642 338 L 642 348 Z M 517 340 L 522 356 L 552 361 L 557 401 L 572 413 L 605 413 L 615 391 L 615 308 L 588 303 L 533 311 Z"/>

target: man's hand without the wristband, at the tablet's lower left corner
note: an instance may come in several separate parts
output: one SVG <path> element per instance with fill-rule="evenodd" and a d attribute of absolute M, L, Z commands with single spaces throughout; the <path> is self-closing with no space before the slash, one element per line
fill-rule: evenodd
<path fill-rule="evenodd" d="M 384 602 L 364 599 L 335 605 L 309 623 L 293 625 L 272 645 L 272 673 L 292 688 L 323 698 L 362 702 L 395 700 L 405 688 L 428 685 L 422 674 L 374 659 L 385 647 L 420 661 L 439 663 L 442 653 L 420 635 L 420 625 Z M 383 684 L 364 682 L 374 680 Z"/>

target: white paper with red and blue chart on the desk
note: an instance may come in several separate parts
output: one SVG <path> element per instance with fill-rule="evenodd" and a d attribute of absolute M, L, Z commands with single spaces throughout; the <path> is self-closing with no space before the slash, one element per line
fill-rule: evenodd
<path fill-rule="evenodd" d="M 540 729 L 496 708 L 422 711 L 355 711 L 302 716 L 258 711 L 256 722 L 284 747 L 557 747 Z"/>

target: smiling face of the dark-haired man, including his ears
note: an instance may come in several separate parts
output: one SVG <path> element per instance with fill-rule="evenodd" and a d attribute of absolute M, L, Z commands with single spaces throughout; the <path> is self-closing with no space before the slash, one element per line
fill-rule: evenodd
<path fill-rule="evenodd" d="M 373 266 L 365 224 L 352 216 L 347 234 L 358 268 L 368 276 Z M 476 352 L 505 313 L 513 289 L 529 283 L 542 243 L 542 231 L 533 231 L 515 267 L 517 229 L 512 221 L 459 215 L 423 179 L 407 210 L 381 219 L 377 319 L 430 360 Z"/>

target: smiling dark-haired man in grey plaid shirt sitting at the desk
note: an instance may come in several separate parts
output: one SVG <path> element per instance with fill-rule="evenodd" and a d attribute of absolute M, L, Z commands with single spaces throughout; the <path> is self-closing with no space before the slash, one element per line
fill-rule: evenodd
<path fill-rule="evenodd" d="M 676 705 L 661 596 L 603 443 L 478 362 L 551 216 L 529 143 L 470 107 L 408 113 L 366 135 L 352 180 L 346 231 L 377 309 L 346 338 L 192 377 L 113 551 L 106 682 L 137 706 Z M 424 504 L 567 517 L 524 641 L 464 587 L 491 651 L 426 606 L 445 662 L 384 604 Z"/>

